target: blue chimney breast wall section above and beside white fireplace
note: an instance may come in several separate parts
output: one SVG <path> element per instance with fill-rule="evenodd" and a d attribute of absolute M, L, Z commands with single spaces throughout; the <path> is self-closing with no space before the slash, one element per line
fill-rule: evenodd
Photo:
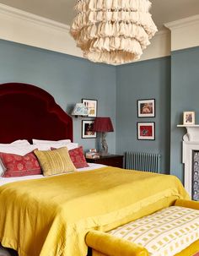
<path fill-rule="evenodd" d="M 196 123 L 199 123 L 199 47 L 171 52 L 170 172 L 181 180 L 181 141 L 186 128 L 176 125 L 182 124 L 184 111 L 196 112 Z"/>

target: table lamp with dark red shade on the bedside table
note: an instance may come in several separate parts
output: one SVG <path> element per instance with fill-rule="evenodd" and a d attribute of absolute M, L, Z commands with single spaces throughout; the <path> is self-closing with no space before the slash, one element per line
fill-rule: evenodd
<path fill-rule="evenodd" d="M 113 132 L 113 125 L 110 117 L 96 117 L 94 120 L 94 132 L 101 133 L 101 146 L 100 155 L 109 155 L 108 144 L 106 143 L 106 133 Z"/>

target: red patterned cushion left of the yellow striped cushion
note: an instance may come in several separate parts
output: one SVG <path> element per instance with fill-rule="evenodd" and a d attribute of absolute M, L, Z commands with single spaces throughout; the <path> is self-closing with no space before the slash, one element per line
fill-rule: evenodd
<path fill-rule="evenodd" d="M 0 153 L 6 172 L 3 177 L 20 177 L 41 174 L 40 164 L 33 152 L 27 155 Z"/>

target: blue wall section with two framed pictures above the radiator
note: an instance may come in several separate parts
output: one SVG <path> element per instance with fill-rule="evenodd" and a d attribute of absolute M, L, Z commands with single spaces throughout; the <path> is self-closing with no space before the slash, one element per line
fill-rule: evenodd
<path fill-rule="evenodd" d="M 156 117 L 138 118 L 137 100 L 155 99 Z M 169 172 L 170 57 L 132 63 L 116 71 L 116 151 L 162 155 Z M 137 140 L 137 122 L 155 122 L 155 140 Z"/>

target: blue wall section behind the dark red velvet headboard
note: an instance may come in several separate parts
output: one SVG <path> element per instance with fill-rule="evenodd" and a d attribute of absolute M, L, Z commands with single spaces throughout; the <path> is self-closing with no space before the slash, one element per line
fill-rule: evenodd
<path fill-rule="evenodd" d="M 9 41 L 0 41 L 0 84 L 35 84 L 54 96 L 63 110 L 71 112 L 82 98 L 98 100 L 98 116 L 111 117 L 116 128 L 116 68 L 90 63 L 66 54 L 41 50 Z M 89 118 L 83 118 L 89 120 Z M 81 139 L 82 119 L 73 118 L 74 141 L 85 150 L 96 139 Z M 109 133 L 110 152 L 116 150 L 116 133 Z"/>

